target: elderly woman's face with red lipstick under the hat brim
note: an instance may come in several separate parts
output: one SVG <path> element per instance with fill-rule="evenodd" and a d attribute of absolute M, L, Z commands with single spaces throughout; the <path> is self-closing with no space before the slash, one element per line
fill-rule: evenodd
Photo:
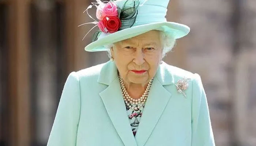
<path fill-rule="evenodd" d="M 116 42 L 110 51 L 124 81 L 145 85 L 155 76 L 162 59 L 160 31 Z"/>

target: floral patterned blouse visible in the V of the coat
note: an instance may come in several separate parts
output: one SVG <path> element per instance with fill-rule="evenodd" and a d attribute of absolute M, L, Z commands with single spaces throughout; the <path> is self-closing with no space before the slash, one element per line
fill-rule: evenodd
<path fill-rule="evenodd" d="M 136 105 L 132 104 L 132 107 L 135 107 Z M 135 137 L 135 134 L 137 132 L 139 123 L 140 123 L 140 118 L 142 117 L 142 112 L 144 110 L 145 107 L 145 103 L 140 107 L 137 108 L 135 110 L 135 108 L 130 108 L 127 104 L 125 104 L 126 110 L 127 110 L 127 114 L 128 114 L 128 118 L 131 124 L 131 128 L 132 128 L 132 133 Z"/>

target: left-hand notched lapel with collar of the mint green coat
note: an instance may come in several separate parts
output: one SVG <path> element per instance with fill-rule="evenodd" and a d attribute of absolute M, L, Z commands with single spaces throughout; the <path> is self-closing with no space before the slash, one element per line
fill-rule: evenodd
<path fill-rule="evenodd" d="M 98 82 L 108 85 L 99 95 L 124 145 L 137 146 L 127 116 L 120 82 L 117 77 L 117 68 L 113 62 L 107 62 L 103 65 Z"/>

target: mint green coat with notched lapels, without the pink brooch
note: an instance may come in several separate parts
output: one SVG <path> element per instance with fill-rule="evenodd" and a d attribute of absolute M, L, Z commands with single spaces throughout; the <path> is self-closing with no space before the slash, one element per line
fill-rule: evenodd
<path fill-rule="evenodd" d="M 187 98 L 175 86 L 183 77 Z M 215 146 L 201 78 L 159 65 L 134 137 L 114 62 L 72 72 L 47 146 Z"/>

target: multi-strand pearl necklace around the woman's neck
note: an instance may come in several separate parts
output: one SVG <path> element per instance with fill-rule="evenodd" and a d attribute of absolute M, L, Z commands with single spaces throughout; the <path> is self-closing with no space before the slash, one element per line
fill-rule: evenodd
<path fill-rule="evenodd" d="M 143 106 L 143 104 L 146 102 L 148 93 L 150 91 L 150 87 L 152 85 L 153 82 L 153 78 L 148 82 L 147 88 L 144 91 L 143 95 L 139 98 L 139 99 L 133 99 L 131 96 L 129 96 L 129 94 L 127 93 L 125 87 L 124 87 L 124 82 L 123 79 L 120 76 L 120 73 L 118 73 L 118 78 L 120 80 L 120 85 L 121 85 L 121 89 L 122 89 L 122 93 L 123 93 L 123 97 L 125 100 L 125 104 L 127 106 L 129 106 L 129 108 L 134 108 L 135 110 L 139 109 L 140 107 Z M 134 106 L 132 106 L 132 104 Z"/>

